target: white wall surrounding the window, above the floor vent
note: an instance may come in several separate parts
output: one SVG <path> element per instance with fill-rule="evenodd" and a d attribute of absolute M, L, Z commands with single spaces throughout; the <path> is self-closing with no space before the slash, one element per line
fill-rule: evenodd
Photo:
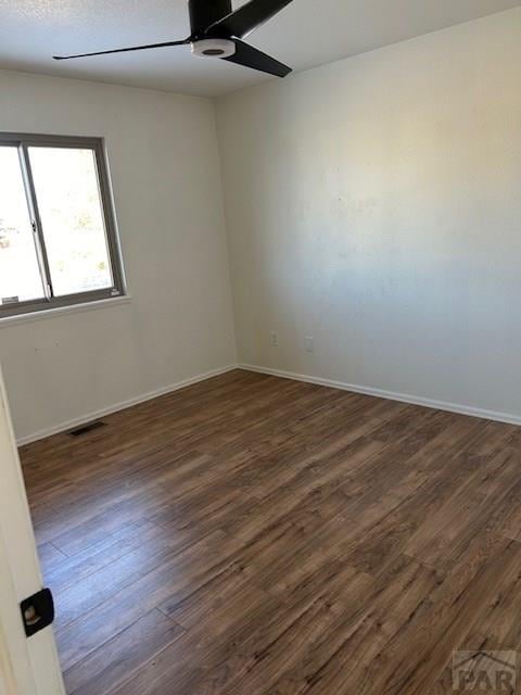
<path fill-rule="evenodd" d="M 0 130 L 106 138 L 132 295 L 0 328 L 18 438 L 234 362 L 211 101 L 0 72 Z"/>

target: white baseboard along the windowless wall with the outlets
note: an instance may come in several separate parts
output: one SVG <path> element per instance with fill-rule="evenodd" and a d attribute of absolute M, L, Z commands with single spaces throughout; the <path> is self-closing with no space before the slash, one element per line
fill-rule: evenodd
<path fill-rule="evenodd" d="M 258 374 L 267 374 L 282 379 L 293 379 L 294 381 L 305 381 L 307 383 L 316 383 L 321 387 L 330 387 L 333 389 L 342 389 L 343 391 L 352 391 L 364 395 L 373 395 L 379 399 L 387 399 L 390 401 L 401 401 L 402 403 L 410 403 L 412 405 L 421 405 L 436 410 L 447 410 L 448 413 L 458 413 L 460 415 L 469 415 L 471 417 L 480 417 L 485 420 L 495 420 L 497 422 L 507 422 L 508 425 L 520 425 L 521 416 L 510 413 L 501 413 L 496 410 L 485 410 L 470 405 L 461 405 L 459 403 L 447 403 L 446 401 L 434 401 L 422 396 L 410 395 L 408 393 L 395 393 L 394 391 L 384 391 L 383 389 L 373 389 L 371 387 L 361 387 L 355 383 L 345 383 L 344 381 L 334 381 L 333 379 L 322 379 L 320 377 L 312 377 L 305 374 L 294 374 L 293 371 L 284 371 L 282 369 L 271 369 L 270 367 L 259 367 L 256 365 L 240 364 L 239 369 L 246 371 L 257 371 Z"/>

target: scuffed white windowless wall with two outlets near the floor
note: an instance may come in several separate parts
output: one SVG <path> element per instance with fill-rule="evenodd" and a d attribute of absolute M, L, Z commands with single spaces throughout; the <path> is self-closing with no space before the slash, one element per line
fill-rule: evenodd
<path fill-rule="evenodd" d="M 217 114 L 241 362 L 521 417 L 521 9 Z"/>

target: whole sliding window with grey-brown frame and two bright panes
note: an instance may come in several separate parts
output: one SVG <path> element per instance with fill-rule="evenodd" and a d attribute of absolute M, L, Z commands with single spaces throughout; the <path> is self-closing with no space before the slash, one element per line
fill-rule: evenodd
<path fill-rule="evenodd" d="M 102 140 L 0 134 L 0 318 L 122 294 Z"/>

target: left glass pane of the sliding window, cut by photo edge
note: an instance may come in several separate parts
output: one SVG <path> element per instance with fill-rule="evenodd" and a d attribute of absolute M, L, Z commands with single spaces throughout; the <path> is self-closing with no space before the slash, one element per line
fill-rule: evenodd
<path fill-rule="evenodd" d="M 0 147 L 0 304 L 43 296 L 18 150 Z"/>

